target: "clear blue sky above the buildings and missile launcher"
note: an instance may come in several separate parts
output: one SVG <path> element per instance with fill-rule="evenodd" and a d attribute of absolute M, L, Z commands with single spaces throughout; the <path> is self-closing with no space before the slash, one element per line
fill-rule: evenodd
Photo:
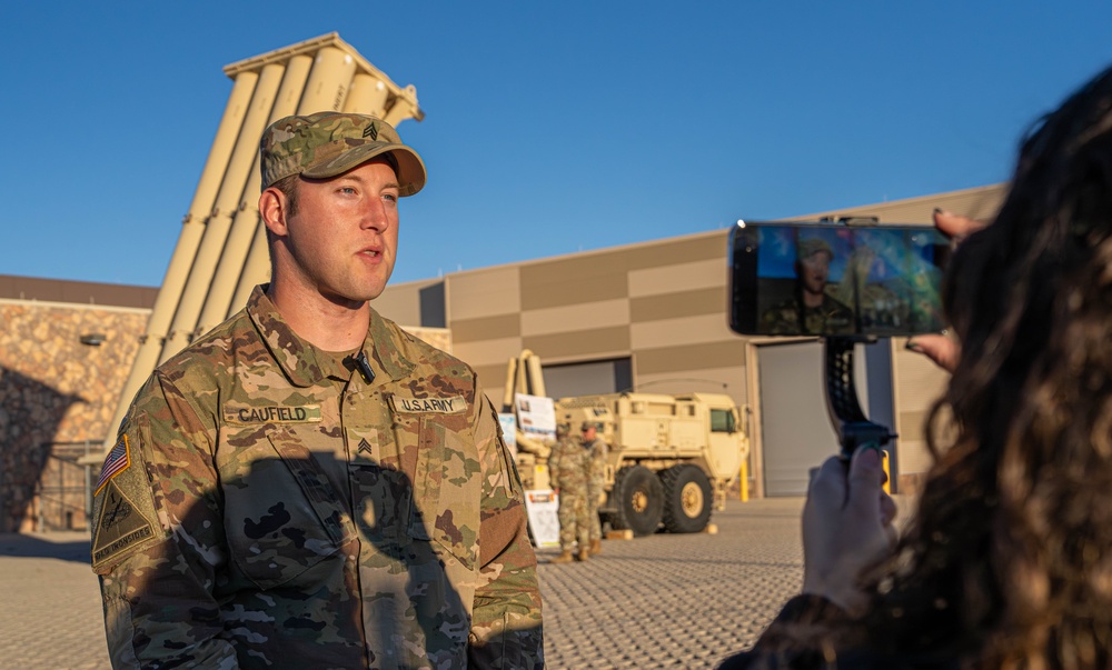
<path fill-rule="evenodd" d="M 0 274 L 158 286 L 231 80 L 328 32 L 400 86 L 394 281 L 986 186 L 1112 63 L 1112 2 L 0 8 Z M 723 250 L 725 253 L 725 249 Z"/>

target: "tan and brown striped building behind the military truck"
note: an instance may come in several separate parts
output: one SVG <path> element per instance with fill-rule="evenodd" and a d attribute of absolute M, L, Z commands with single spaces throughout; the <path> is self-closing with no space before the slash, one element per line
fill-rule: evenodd
<path fill-rule="evenodd" d="M 991 218 L 1003 186 L 795 217 L 876 217 L 930 223 L 935 208 Z M 550 396 L 622 390 L 726 392 L 748 409 L 751 489 L 802 494 L 808 468 L 835 440 L 814 339 L 744 338 L 727 326 L 728 230 L 449 273 L 388 287 L 376 309 L 403 324 L 447 328 L 453 353 L 479 372 L 496 406 L 507 363 L 540 357 Z M 410 250 L 410 252 L 418 252 Z M 900 438 L 897 489 L 927 467 L 922 423 L 945 376 L 904 340 L 858 347 L 857 384 L 870 418 Z"/>

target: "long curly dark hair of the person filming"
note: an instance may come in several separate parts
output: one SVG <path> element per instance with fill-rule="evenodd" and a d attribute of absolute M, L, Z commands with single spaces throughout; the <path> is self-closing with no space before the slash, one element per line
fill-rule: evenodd
<path fill-rule="evenodd" d="M 944 302 L 961 362 L 866 634 L 963 668 L 1112 667 L 1112 68 L 1029 133 Z"/>

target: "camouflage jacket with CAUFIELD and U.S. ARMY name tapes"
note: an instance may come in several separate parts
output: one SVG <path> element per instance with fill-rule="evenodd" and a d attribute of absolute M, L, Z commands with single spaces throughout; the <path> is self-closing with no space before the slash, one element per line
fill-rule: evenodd
<path fill-rule="evenodd" d="M 369 383 L 261 288 L 160 366 L 93 503 L 117 668 L 542 668 L 522 484 L 460 361 L 371 312 Z"/>

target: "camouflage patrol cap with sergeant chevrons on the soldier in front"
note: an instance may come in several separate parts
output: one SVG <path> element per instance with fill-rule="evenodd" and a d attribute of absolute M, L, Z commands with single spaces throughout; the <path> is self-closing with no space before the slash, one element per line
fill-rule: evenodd
<path fill-rule="evenodd" d="M 394 127 L 367 114 L 315 112 L 278 119 L 259 142 L 262 190 L 300 174 L 328 179 L 388 153 L 397 161 L 400 196 L 425 186 L 425 163 L 401 143 Z"/>

